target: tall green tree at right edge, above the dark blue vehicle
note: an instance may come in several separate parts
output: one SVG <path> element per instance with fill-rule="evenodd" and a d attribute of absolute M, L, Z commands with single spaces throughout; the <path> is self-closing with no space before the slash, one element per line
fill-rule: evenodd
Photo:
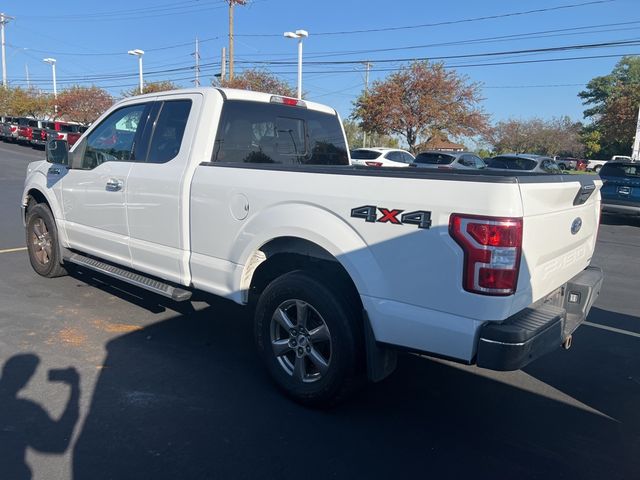
<path fill-rule="evenodd" d="M 610 74 L 593 78 L 578 96 L 588 107 L 584 117 L 591 120 L 587 137 L 583 135 L 590 141 L 587 150 L 601 157 L 629 155 L 640 105 L 640 57 L 623 57 Z"/>

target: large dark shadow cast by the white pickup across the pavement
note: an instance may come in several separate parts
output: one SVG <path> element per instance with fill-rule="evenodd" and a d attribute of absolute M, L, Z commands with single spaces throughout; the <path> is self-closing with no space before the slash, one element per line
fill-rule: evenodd
<path fill-rule="evenodd" d="M 213 301 L 108 344 L 74 479 L 638 478 L 638 339 L 577 336 L 527 371 L 604 415 L 413 355 L 322 412 L 270 382 L 248 310 Z"/>

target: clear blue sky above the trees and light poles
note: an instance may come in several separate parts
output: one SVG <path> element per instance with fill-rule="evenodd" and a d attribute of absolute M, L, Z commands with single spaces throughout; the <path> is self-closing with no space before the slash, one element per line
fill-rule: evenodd
<path fill-rule="evenodd" d="M 309 32 L 304 42 L 306 62 L 354 62 L 305 62 L 304 66 L 307 98 L 348 116 L 364 86 L 364 66 L 359 61 L 373 63 L 373 81 L 405 63 L 402 59 L 638 40 L 636 45 L 443 60 L 484 85 L 484 108 L 493 120 L 560 115 L 579 120 L 583 107 L 577 93 L 583 85 L 609 73 L 619 55 L 640 54 L 640 1 L 584 5 L 588 2 L 249 0 L 247 6 L 235 8 L 236 72 L 260 66 L 295 86 L 295 65 L 257 62 L 294 62 L 296 42 L 282 33 L 305 29 Z M 558 8 L 578 4 L 583 5 Z M 95 84 L 117 96 L 137 85 L 137 62 L 126 53 L 137 48 L 146 51 L 145 80 L 191 86 L 196 36 L 205 65 L 201 82 L 210 84 L 228 40 L 224 0 L 13 2 L 3 8 L 15 17 L 6 27 L 10 84 L 26 84 L 26 66 L 31 84 L 48 91 L 51 67 L 42 59 L 54 57 L 58 90 L 73 83 Z M 521 14 L 540 9 L 553 10 Z M 369 31 L 353 33 L 357 30 Z M 589 56 L 610 57 L 538 62 Z M 522 61 L 531 63 L 486 65 Z"/>

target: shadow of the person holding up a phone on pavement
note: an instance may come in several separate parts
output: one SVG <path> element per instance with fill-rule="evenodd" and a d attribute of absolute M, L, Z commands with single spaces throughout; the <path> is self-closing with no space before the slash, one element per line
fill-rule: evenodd
<path fill-rule="evenodd" d="M 49 381 L 62 382 L 71 395 L 58 420 L 53 420 L 37 402 L 18 396 L 36 372 L 40 359 L 33 354 L 14 355 L 7 360 L 0 378 L 0 476 L 31 478 L 25 461 L 27 447 L 39 452 L 63 454 L 69 447 L 78 421 L 80 387 L 74 368 L 50 370 Z"/>

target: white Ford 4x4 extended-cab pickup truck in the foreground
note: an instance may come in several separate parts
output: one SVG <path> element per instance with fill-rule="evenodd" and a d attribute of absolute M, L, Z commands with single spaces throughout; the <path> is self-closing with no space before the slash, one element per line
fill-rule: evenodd
<path fill-rule="evenodd" d="M 399 349 L 495 370 L 561 345 L 598 296 L 601 181 L 349 164 L 335 110 L 203 88 L 126 99 L 29 165 L 29 258 L 255 309 L 269 373 L 311 404 Z M 559 366 L 559 368 L 562 368 Z"/>

